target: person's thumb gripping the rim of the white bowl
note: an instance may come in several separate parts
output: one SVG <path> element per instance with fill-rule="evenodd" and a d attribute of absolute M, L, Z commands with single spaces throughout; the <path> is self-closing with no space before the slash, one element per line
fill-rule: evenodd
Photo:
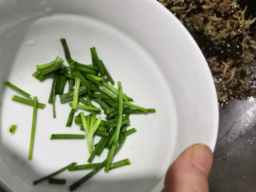
<path fill-rule="evenodd" d="M 169 167 L 162 192 L 208 192 L 212 158 L 207 145 L 186 148 Z"/>

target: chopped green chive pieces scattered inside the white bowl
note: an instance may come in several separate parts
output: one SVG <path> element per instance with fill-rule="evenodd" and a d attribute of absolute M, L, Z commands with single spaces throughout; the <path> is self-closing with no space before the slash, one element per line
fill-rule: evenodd
<path fill-rule="evenodd" d="M 57 172 L 35 180 L 34 184 L 47 179 L 49 179 L 50 183 L 65 184 L 65 179 L 52 178 L 52 176 L 67 169 L 68 171 L 92 169 L 87 175 L 84 175 L 84 177 L 70 185 L 70 191 L 73 191 L 102 169 L 108 172 L 111 169 L 130 165 L 131 162 L 128 158 L 115 163 L 112 162 L 113 157 L 122 148 L 128 135 L 137 131 L 135 128 L 127 130 L 130 123 L 129 116 L 140 113 L 154 113 L 156 110 L 154 108 L 148 109 L 134 105 L 132 103 L 134 100 L 123 93 L 120 81 L 117 82 L 117 88 L 114 87 L 115 81 L 107 70 L 106 65 L 99 58 L 95 47 L 90 48 L 91 64 L 82 64 L 76 61 L 75 58 L 72 58 L 66 39 L 61 38 L 60 41 L 67 63 L 57 56 L 54 61 L 36 65 L 36 71 L 32 76 L 39 81 L 52 78 L 48 103 L 52 104 L 53 117 L 55 118 L 58 115 L 55 113 L 55 97 L 59 95 L 61 104 L 70 106 L 66 126 L 71 127 L 74 122 L 77 125 L 77 129 L 84 131 L 84 134 L 55 133 L 51 134 L 49 139 L 74 140 L 74 142 L 77 139 L 86 140 L 88 154 L 90 156 L 87 164 L 76 165 L 76 163 L 71 163 Z M 67 84 L 68 91 L 65 90 Z M 45 105 L 38 103 L 36 96 L 32 99 L 30 94 L 20 90 L 8 81 L 5 82 L 5 85 L 17 90 L 28 98 L 24 99 L 15 96 L 13 98 L 14 101 L 33 106 L 32 132 L 29 148 L 29 159 L 31 159 L 35 137 L 36 111 L 37 108 L 44 108 Z M 97 105 L 100 108 L 96 107 Z M 93 145 L 95 135 L 100 137 L 100 140 Z M 103 150 L 108 151 L 105 160 L 102 162 L 93 162 L 94 157 L 102 154 Z"/>

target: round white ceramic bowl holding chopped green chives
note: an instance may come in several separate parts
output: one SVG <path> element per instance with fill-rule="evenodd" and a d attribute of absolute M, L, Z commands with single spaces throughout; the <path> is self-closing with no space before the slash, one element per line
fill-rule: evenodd
<path fill-rule="evenodd" d="M 159 191 L 172 161 L 187 146 L 212 150 L 218 131 L 218 105 L 209 68 L 182 24 L 156 0 L 0 1 L 0 81 L 8 80 L 46 103 L 51 79 L 32 77 L 36 64 L 64 58 L 66 38 L 72 58 L 90 64 L 90 47 L 134 104 L 157 113 L 131 116 L 127 137 L 114 161 L 131 165 L 103 170 L 76 191 Z M 11 101 L 17 94 L 0 85 L 0 185 L 6 191 L 68 191 L 89 171 L 63 172 L 66 185 L 32 182 L 67 164 L 87 163 L 85 140 L 49 140 L 51 134 L 82 134 L 65 127 L 70 107 L 56 101 L 38 109 L 32 160 L 28 160 L 32 107 Z M 17 131 L 9 135 L 16 124 Z M 97 138 L 96 138 L 97 140 Z M 106 151 L 93 162 L 106 157 Z"/>

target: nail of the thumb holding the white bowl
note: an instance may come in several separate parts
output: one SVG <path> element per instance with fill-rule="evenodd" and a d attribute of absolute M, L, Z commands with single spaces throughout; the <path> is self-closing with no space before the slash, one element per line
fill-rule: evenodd
<path fill-rule="evenodd" d="M 193 145 L 191 162 L 206 174 L 209 174 L 212 166 L 212 150 L 204 144 Z"/>

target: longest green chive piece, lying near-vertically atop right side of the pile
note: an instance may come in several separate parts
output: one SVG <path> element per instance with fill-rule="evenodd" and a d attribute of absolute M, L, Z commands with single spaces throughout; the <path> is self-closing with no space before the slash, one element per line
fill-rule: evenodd
<path fill-rule="evenodd" d="M 110 168 L 110 164 L 111 161 L 113 159 L 115 150 L 116 150 L 116 144 L 118 141 L 118 137 L 119 137 L 119 132 L 120 132 L 120 128 L 121 128 L 121 122 L 122 122 L 122 111 L 123 111 L 123 97 L 122 97 L 122 84 L 120 81 L 117 82 L 118 85 L 118 96 L 119 96 L 119 113 L 118 113 L 118 120 L 117 120 L 117 126 L 116 126 L 116 131 L 114 133 L 114 139 L 113 139 L 113 143 L 111 148 L 108 151 L 108 157 L 107 157 L 107 161 L 106 161 L 106 165 L 105 165 L 105 172 L 108 172 L 109 168 Z"/>

